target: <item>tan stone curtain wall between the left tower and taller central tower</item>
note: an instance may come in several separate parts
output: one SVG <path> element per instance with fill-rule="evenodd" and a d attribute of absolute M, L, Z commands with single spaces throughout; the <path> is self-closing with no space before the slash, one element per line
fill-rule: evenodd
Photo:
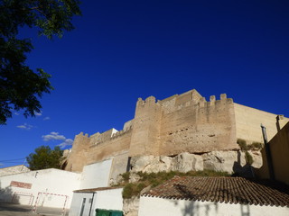
<path fill-rule="evenodd" d="M 95 163 L 127 152 L 130 146 L 131 134 L 132 130 L 126 130 L 101 143 L 90 145 L 86 154 L 87 164 Z"/>

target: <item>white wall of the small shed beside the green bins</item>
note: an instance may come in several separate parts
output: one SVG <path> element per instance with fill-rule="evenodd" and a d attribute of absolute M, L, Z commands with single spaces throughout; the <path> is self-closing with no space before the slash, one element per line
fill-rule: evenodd
<path fill-rule="evenodd" d="M 123 209 L 122 188 L 109 189 L 94 192 L 90 215 L 96 215 L 96 209 L 117 210 Z M 86 198 L 83 216 L 89 216 L 89 210 L 93 192 L 91 193 L 73 193 L 73 199 L 70 206 L 70 216 L 79 216 L 83 198 Z"/>

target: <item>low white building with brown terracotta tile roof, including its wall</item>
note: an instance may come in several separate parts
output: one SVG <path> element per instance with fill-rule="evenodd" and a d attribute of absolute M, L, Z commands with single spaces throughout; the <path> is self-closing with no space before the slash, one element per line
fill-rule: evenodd
<path fill-rule="evenodd" d="M 289 194 L 241 177 L 179 177 L 140 198 L 138 216 L 287 216 Z"/>

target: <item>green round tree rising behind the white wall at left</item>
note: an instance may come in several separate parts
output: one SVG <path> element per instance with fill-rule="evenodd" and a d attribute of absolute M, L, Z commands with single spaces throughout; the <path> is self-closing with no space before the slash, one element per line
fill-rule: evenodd
<path fill-rule="evenodd" d="M 31 170 L 46 168 L 61 168 L 61 157 L 63 150 L 55 147 L 53 150 L 49 146 L 35 148 L 35 152 L 26 157 Z"/>

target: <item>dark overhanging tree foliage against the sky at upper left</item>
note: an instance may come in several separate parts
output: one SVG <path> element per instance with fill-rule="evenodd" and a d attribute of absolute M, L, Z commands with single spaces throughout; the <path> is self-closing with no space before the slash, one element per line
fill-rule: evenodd
<path fill-rule="evenodd" d="M 74 28 L 71 19 L 79 14 L 78 0 L 0 0 L 0 124 L 12 117 L 12 110 L 34 116 L 42 108 L 42 94 L 53 89 L 49 74 L 25 64 L 33 44 L 17 38 L 19 29 L 35 27 L 49 39 L 62 37 Z"/>

